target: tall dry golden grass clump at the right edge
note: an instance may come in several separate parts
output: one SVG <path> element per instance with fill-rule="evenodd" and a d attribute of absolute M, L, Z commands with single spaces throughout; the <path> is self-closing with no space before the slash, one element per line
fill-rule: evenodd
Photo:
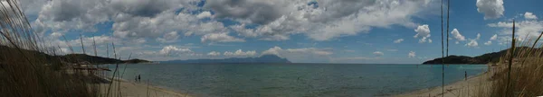
<path fill-rule="evenodd" d="M 495 74 L 490 79 L 491 84 L 482 87 L 475 96 L 535 97 L 543 95 L 543 58 L 541 56 L 543 50 L 541 46 L 537 46 L 539 38 L 513 44 L 511 47 L 520 48 L 510 48 L 508 51 L 510 53 L 500 57 L 495 71 L 491 71 Z"/>

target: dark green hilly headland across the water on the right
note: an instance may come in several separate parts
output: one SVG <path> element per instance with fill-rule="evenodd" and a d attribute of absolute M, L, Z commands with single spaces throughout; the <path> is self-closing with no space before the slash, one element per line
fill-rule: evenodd
<path fill-rule="evenodd" d="M 541 48 L 528 48 L 528 47 L 518 47 L 515 48 L 516 51 L 519 51 L 518 49 L 541 49 Z M 477 57 L 466 57 L 466 56 L 449 56 L 444 57 L 444 63 L 445 64 L 488 64 L 488 63 L 495 63 L 500 61 L 500 57 L 507 54 L 508 49 L 501 50 L 499 52 L 491 52 L 486 53 L 481 56 Z M 423 64 L 442 64 L 442 58 L 435 58 L 433 60 L 428 60 L 424 62 Z"/>

